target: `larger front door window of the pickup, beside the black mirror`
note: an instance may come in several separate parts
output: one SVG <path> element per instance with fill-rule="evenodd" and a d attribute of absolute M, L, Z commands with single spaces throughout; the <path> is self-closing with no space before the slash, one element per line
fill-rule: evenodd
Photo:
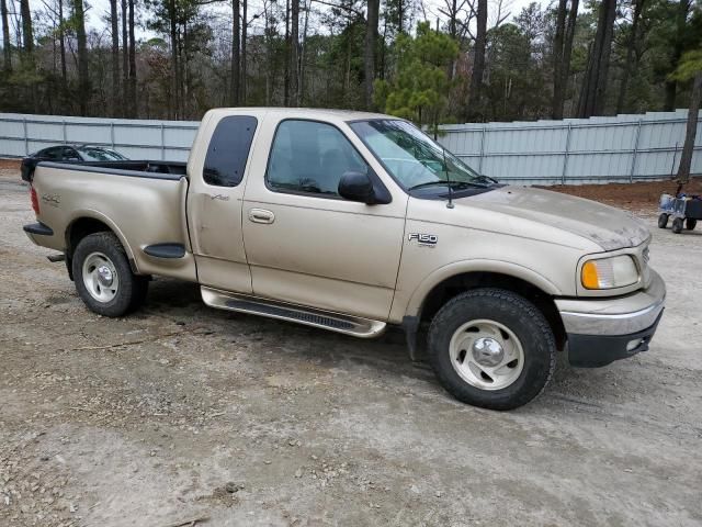
<path fill-rule="evenodd" d="M 265 175 L 272 190 L 338 195 L 349 171 L 367 173 L 367 165 L 337 127 L 293 120 L 279 125 Z"/>

